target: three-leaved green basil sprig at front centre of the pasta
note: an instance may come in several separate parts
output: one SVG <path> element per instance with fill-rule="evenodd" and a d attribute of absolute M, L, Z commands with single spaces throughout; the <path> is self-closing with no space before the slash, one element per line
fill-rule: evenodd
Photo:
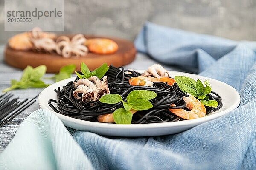
<path fill-rule="evenodd" d="M 136 111 L 148 110 L 153 107 L 149 100 L 154 99 L 157 94 L 154 91 L 134 90 L 131 91 L 124 102 L 119 94 L 106 94 L 99 101 L 107 104 L 123 103 L 123 108 L 118 108 L 113 112 L 113 118 L 116 124 L 131 124 L 131 109 Z"/>

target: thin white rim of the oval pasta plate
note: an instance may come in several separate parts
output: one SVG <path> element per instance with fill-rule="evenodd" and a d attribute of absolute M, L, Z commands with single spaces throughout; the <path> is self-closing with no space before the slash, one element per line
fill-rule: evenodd
<path fill-rule="evenodd" d="M 143 72 L 143 70 L 136 70 L 138 72 Z M 205 77 L 205 76 L 201 76 L 201 75 L 197 75 L 197 74 L 191 74 L 191 73 L 186 73 L 186 72 L 180 72 L 180 71 L 168 71 L 170 74 L 175 74 L 178 75 L 179 73 L 182 74 L 189 74 L 189 75 L 193 75 L 193 76 L 198 76 L 198 79 L 213 79 L 210 77 Z M 70 79 L 70 81 L 72 81 L 72 79 L 75 79 L 76 77 L 70 77 L 68 79 Z M 58 84 L 61 84 L 61 82 L 65 82 L 68 79 L 64 79 L 61 80 L 59 82 L 56 82 Z M 193 125 L 193 124 L 201 124 L 202 122 L 208 122 L 212 119 L 216 119 L 218 117 L 223 116 L 224 114 L 229 113 L 230 111 L 233 111 L 234 109 L 236 109 L 240 102 L 241 102 L 241 96 L 239 94 L 238 91 L 236 91 L 235 88 L 233 88 L 231 85 L 228 85 L 227 83 L 221 82 L 217 79 L 214 79 L 215 81 L 217 81 L 220 84 L 224 84 L 229 86 L 230 89 L 232 89 L 232 91 L 235 92 L 236 96 L 239 96 L 239 100 L 237 100 L 236 102 L 234 102 L 229 108 L 227 108 L 224 111 L 212 114 L 212 115 L 208 115 L 205 117 L 201 117 L 198 119 L 190 119 L 190 120 L 184 120 L 184 121 L 177 121 L 177 122 L 162 122 L 162 123 L 154 123 L 154 124 L 113 124 L 113 123 L 101 123 L 101 122 L 91 122 L 91 121 L 86 121 L 86 120 L 81 120 L 81 119 L 76 119 L 76 118 L 72 118 L 69 116 L 65 116 L 62 115 L 60 113 L 57 113 L 53 110 L 49 110 L 49 108 L 45 107 L 45 105 L 43 105 L 43 94 L 44 91 L 47 91 L 47 89 L 51 88 L 52 85 L 55 85 L 56 83 L 49 85 L 47 88 L 45 88 L 43 91 L 41 91 L 41 93 L 38 96 L 38 104 L 40 105 L 40 108 L 42 109 L 46 109 L 47 111 L 51 111 L 52 113 L 54 113 L 59 119 L 61 119 L 61 121 L 69 121 L 69 122 L 73 122 L 73 123 L 78 123 L 79 125 L 85 125 L 86 126 L 90 126 L 90 127 L 99 127 L 99 128 L 108 128 L 108 129 L 156 129 L 156 128 L 163 128 L 163 127 L 176 127 L 176 126 L 187 126 L 187 125 Z M 63 120 L 64 119 L 64 120 Z"/>

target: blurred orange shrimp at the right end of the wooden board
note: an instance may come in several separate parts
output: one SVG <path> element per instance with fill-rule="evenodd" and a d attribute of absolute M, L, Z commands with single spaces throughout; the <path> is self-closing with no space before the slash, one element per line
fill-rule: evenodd
<path fill-rule="evenodd" d="M 89 51 L 97 54 L 113 54 L 118 50 L 118 45 L 113 40 L 107 38 L 88 39 L 84 45 Z"/>

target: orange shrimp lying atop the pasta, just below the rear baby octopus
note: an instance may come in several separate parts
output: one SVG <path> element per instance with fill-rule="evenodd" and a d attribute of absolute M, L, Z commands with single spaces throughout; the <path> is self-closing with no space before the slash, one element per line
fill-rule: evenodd
<path fill-rule="evenodd" d="M 129 80 L 130 85 L 145 85 L 145 86 L 153 86 L 154 82 L 167 82 L 168 85 L 173 85 L 175 83 L 175 79 L 169 77 L 146 77 L 146 76 L 137 76 L 131 77 Z"/>

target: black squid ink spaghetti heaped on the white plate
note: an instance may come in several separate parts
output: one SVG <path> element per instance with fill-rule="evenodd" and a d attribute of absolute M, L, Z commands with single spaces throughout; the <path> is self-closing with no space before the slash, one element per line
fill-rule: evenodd
<path fill-rule="evenodd" d="M 134 113 L 131 123 L 143 124 L 185 120 L 169 111 L 169 108 L 188 110 L 186 108 L 186 103 L 183 101 L 183 97 L 188 97 L 188 95 L 180 90 L 177 83 L 170 86 L 164 82 L 154 82 L 153 87 L 140 85 L 132 86 L 129 84 L 128 81 L 131 77 L 140 75 L 141 74 L 136 71 L 127 70 L 123 67 L 116 68 L 113 66 L 110 66 L 105 74 L 105 76 L 108 77 L 110 94 L 119 94 L 124 101 L 126 101 L 127 95 L 133 90 L 149 90 L 157 93 L 157 97 L 150 100 L 153 108 Z M 79 78 L 77 77 L 76 80 L 78 79 Z M 81 100 L 73 97 L 73 91 L 75 89 L 76 86 L 73 81 L 67 83 L 62 90 L 60 90 L 60 88 L 55 89 L 57 100 L 50 99 L 48 102 L 49 106 L 57 113 L 93 122 L 98 122 L 97 117 L 99 115 L 113 113 L 113 109 L 122 107 L 122 102 L 117 104 L 105 104 L 99 101 L 83 103 Z M 216 108 L 205 106 L 206 114 L 208 115 L 209 113 L 219 110 L 222 107 L 222 103 L 221 96 L 213 91 L 210 94 L 207 94 L 207 96 L 209 96 L 210 100 L 216 100 L 218 102 L 218 107 Z M 52 103 L 55 103 L 56 107 Z M 171 104 L 175 104 L 176 106 L 170 106 Z"/>

